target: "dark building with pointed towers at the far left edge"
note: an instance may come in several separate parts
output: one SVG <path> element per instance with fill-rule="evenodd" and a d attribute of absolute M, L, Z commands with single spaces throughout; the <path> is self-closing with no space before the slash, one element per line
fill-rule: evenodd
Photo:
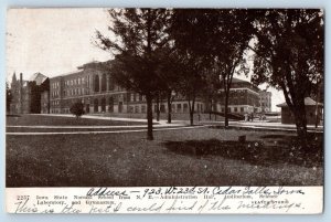
<path fill-rule="evenodd" d="M 41 74 L 33 74 L 29 81 L 23 80 L 23 74 L 17 80 L 15 73 L 12 76 L 10 104 L 11 114 L 40 114 L 41 94 L 49 91 L 49 78 Z"/>

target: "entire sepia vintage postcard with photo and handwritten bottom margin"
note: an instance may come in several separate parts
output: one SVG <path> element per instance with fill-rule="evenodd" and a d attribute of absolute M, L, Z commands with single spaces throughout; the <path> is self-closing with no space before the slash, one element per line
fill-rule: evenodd
<path fill-rule="evenodd" d="M 322 9 L 8 9 L 9 213 L 323 212 Z"/>

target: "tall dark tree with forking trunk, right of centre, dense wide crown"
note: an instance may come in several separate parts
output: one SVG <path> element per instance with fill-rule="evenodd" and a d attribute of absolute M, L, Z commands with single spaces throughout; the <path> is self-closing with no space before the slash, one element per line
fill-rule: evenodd
<path fill-rule="evenodd" d="M 250 35 L 250 17 L 243 9 L 174 11 L 173 35 L 180 49 L 201 56 L 215 68 L 223 85 L 225 126 L 228 126 L 228 97 L 233 75 L 247 74 L 245 50 Z"/>

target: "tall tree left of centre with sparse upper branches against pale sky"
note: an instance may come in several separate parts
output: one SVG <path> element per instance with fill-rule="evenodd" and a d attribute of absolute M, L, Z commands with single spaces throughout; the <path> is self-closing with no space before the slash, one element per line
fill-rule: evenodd
<path fill-rule="evenodd" d="M 152 135 L 152 99 L 158 92 L 159 77 L 156 51 L 168 42 L 167 9 L 111 9 L 111 38 L 96 32 L 96 44 L 115 54 L 111 73 L 117 83 L 146 96 L 147 138 Z"/>

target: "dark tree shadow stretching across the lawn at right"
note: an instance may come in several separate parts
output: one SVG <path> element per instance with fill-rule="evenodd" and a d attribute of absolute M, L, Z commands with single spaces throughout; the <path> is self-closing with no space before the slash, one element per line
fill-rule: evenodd
<path fill-rule="evenodd" d="M 301 148 L 296 136 L 274 135 L 269 140 L 185 140 L 167 141 L 164 146 L 175 154 L 196 158 L 221 156 L 226 159 L 246 161 L 256 166 L 275 163 L 301 167 L 321 167 L 323 163 L 322 137 L 312 135 L 307 148 Z"/>

